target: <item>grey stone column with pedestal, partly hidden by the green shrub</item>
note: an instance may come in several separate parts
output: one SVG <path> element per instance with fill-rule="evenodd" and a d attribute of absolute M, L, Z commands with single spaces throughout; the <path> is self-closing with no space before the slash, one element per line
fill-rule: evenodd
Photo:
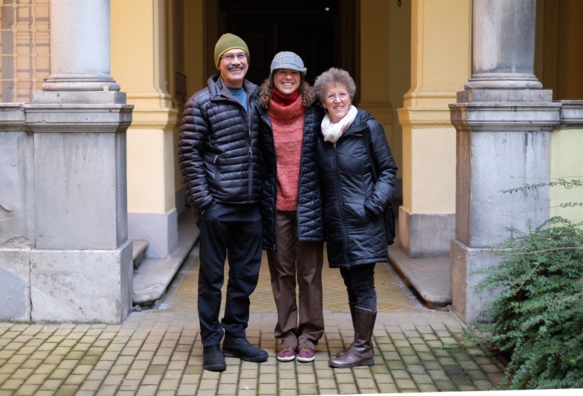
<path fill-rule="evenodd" d="M 487 247 L 549 216 L 550 190 L 501 190 L 548 181 L 550 136 L 560 104 L 533 74 L 536 0 L 473 0 L 473 74 L 450 105 L 456 129 L 455 239 L 450 243 L 453 311 L 468 323 L 491 296 L 470 272 L 496 265 Z"/>

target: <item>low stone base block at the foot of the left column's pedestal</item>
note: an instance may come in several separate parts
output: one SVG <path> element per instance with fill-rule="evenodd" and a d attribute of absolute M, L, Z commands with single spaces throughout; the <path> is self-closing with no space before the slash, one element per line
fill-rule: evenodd
<path fill-rule="evenodd" d="M 130 313 L 132 243 L 115 250 L 31 251 L 32 320 L 121 323 Z"/>

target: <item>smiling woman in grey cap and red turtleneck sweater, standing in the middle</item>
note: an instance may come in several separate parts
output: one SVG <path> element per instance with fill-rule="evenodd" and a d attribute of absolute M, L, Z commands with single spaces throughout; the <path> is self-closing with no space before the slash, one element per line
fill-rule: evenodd
<path fill-rule="evenodd" d="M 260 88 L 260 142 L 264 157 L 261 213 L 263 248 L 278 309 L 278 361 L 311 362 L 324 332 L 323 216 L 316 140 L 323 110 L 314 104 L 306 68 L 296 53 L 271 62 Z M 296 281 L 299 287 L 296 304 Z"/>

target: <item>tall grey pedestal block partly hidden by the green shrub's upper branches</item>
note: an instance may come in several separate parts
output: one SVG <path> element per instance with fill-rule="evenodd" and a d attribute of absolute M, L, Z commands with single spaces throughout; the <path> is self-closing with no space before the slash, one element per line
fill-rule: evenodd
<path fill-rule="evenodd" d="M 458 132 L 455 238 L 470 247 L 498 245 L 507 227 L 548 219 L 548 187 L 505 192 L 548 182 L 550 132 Z"/>

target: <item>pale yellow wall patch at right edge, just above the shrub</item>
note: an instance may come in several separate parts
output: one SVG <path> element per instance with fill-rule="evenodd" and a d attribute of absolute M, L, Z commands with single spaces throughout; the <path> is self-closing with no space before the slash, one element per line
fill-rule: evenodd
<path fill-rule="evenodd" d="M 583 180 L 583 129 L 562 129 L 552 132 L 550 174 L 551 180 Z M 582 203 L 583 188 L 565 189 L 559 186 L 550 190 L 550 215 L 566 217 L 573 222 L 583 222 L 583 208 L 560 208 L 559 204 Z"/>

